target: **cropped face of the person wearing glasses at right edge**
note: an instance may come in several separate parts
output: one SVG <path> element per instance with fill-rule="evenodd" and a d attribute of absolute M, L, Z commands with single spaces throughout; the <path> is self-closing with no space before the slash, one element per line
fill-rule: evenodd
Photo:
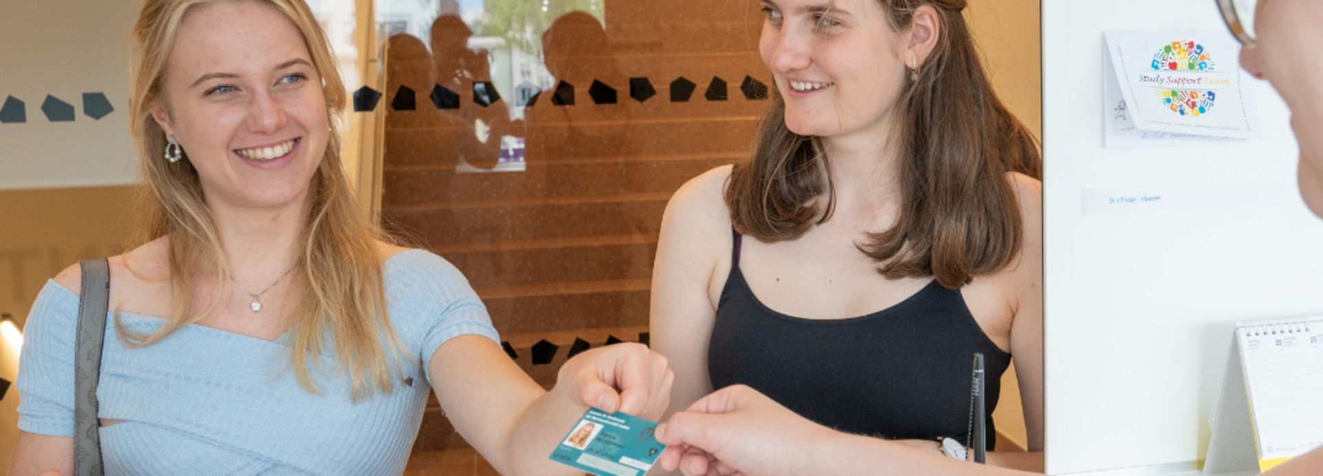
<path fill-rule="evenodd" d="M 1323 217 L 1323 1 L 1259 0 L 1256 48 L 1241 50 L 1241 65 L 1267 79 L 1291 108 L 1301 143 L 1299 184 L 1304 202 Z"/>

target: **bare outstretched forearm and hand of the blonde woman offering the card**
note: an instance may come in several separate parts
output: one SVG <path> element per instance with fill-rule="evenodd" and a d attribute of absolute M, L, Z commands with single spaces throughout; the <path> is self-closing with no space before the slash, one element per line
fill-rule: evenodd
<path fill-rule="evenodd" d="M 587 411 L 660 418 L 669 402 L 667 361 L 639 344 L 583 352 L 544 391 L 480 336 L 455 337 L 431 357 L 433 389 L 455 430 L 501 475 L 581 475 L 549 459 Z"/>

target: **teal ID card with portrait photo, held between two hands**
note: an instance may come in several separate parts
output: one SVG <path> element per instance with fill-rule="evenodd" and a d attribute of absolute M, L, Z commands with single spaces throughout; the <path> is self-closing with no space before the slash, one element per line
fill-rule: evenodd
<path fill-rule="evenodd" d="M 598 476 L 640 476 L 652 468 L 665 444 L 656 422 L 589 409 L 552 451 L 552 460 Z"/>

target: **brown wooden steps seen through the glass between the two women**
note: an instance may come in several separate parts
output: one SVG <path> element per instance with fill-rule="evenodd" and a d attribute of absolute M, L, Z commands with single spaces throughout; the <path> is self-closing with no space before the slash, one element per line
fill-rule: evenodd
<path fill-rule="evenodd" d="M 542 386 L 554 385 L 577 338 L 591 346 L 640 340 L 667 201 L 689 178 L 747 156 L 770 102 L 746 99 L 740 85 L 746 75 L 771 85 L 757 52 L 757 8 L 607 0 L 609 52 L 579 52 L 558 71 L 576 86 L 576 104 L 553 106 L 544 91 L 525 120 L 488 122 L 525 138 L 523 172 L 456 173 L 455 157 L 474 149 L 462 144 L 471 118 L 493 112 L 464 94 L 460 110 L 435 110 L 426 99 L 427 82 L 438 81 L 433 62 L 417 49 L 398 61 L 388 56 L 384 223 L 463 271 L 515 361 Z M 631 99 L 634 77 L 650 78 L 656 95 Z M 672 103 L 679 77 L 697 87 Z M 726 100 L 704 97 L 713 77 L 726 81 Z M 618 103 L 594 104 L 593 79 L 614 86 Z M 415 111 L 389 108 L 400 85 L 417 91 Z M 531 348 L 544 340 L 560 349 L 550 364 L 533 365 Z M 480 460 L 433 398 L 410 471 L 493 473 Z"/>

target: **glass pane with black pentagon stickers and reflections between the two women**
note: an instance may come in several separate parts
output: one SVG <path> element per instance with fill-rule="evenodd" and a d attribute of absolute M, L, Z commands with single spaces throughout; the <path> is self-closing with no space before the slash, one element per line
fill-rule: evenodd
<path fill-rule="evenodd" d="M 377 21 L 382 222 L 463 271 L 544 386 L 647 342 L 667 200 L 745 157 L 770 103 L 758 3 L 378 0 Z M 410 471 L 437 469 L 491 472 L 433 401 Z"/>

